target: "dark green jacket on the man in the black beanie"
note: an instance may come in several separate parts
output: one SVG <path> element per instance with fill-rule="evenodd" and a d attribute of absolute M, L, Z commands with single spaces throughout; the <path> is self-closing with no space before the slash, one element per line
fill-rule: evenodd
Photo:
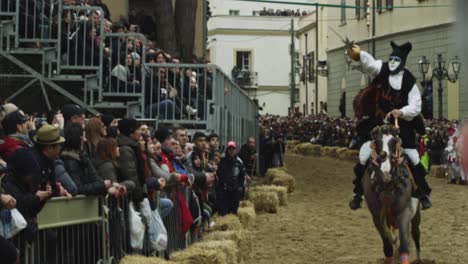
<path fill-rule="evenodd" d="M 140 202 L 144 198 L 143 185 L 145 183 L 140 145 L 138 142 L 122 134 L 117 137 L 117 142 L 120 152 L 119 164 L 121 171 L 119 182 L 128 180 L 134 182 L 135 188 L 131 195 L 133 196 L 133 201 Z"/>

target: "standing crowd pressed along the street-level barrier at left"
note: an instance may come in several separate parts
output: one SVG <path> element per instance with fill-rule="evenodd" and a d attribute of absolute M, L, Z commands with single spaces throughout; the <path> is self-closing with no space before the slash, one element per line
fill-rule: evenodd
<path fill-rule="evenodd" d="M 36 122 L 7 103 L 1 105 L 0 121 L 2 207 L 16 207 L 26 219 L 19 237 L 27 241 L 37 235 L 37 215 L 52 197 L 126 197 L 135 205 L 148 199 L 151 210 L 159 205 L 166 219 L 181 204 L 180 196 L 170 195 L 174 188 L 188 188 L 197 197 L 191 206 L 199 208 L 177 222 L 189 221 L 184 232 L 202 232 L 214 213 L 237 213 L 246 181 L 255 173 L 254 138 L 238 155 L 236 142 L 219 142 L 214 133 L 195 131 L 190 138 L 183 127 L 155 130 L 108 115 L 88 119 L 71 104 Z M 54 243 L 48 240 L 47 245 Z M 2 263 L 14 263 L 14 246 L 1 236 L 0 245 Z M 22 249 L 20 254 L 23 258 Z"/>

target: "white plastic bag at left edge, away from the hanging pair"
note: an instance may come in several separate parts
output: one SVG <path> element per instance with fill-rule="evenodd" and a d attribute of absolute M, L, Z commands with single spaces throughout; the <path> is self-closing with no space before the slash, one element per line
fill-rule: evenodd
<path fill-rule="evenodd" d="M 18 209 L 0 211 L 0 236 L 10 239 L 25 229 L 28 223 Z"/>

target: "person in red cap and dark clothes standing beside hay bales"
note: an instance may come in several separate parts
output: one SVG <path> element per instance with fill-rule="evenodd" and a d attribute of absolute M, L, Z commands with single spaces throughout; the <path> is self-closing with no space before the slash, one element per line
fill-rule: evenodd
<path fill-rule="evenodd" d="M 237 214 L 247 173 L 242 160 L 237 157 L 236 142 L 228 142 L 226 155 L 221 158 L 216 175 L 216 207 L 219 215 Z"/>

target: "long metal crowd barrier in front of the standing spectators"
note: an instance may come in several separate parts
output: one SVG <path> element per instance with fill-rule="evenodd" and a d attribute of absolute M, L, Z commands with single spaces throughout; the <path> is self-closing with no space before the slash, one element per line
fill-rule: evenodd
<path fill-rule="evenodd" d="M 173 208 L 165 217 L 168 232 L 167 252 L 188 247 L 192 243 L 190 230 L 181 233 L 179 194 L 186 198 L 189 206 L 189 190 L 173 186 L 167 194 Z M 155 196 L 156 206 L 161 213 L 160 194 Z M 130 246 L 128 222 L 131 196 L 120 198 L 76 196 L 49 200 L 37 217 L 38 231 L 31 238 L 23 232 L 12 238 L 20 251 L 22 264 L 39 263 L 118 263 L 127 254 L 163 256 L 150 246 L 148 226 L 142 250 Z M 146 223 L 148 219 L 143 219 Z"/>

